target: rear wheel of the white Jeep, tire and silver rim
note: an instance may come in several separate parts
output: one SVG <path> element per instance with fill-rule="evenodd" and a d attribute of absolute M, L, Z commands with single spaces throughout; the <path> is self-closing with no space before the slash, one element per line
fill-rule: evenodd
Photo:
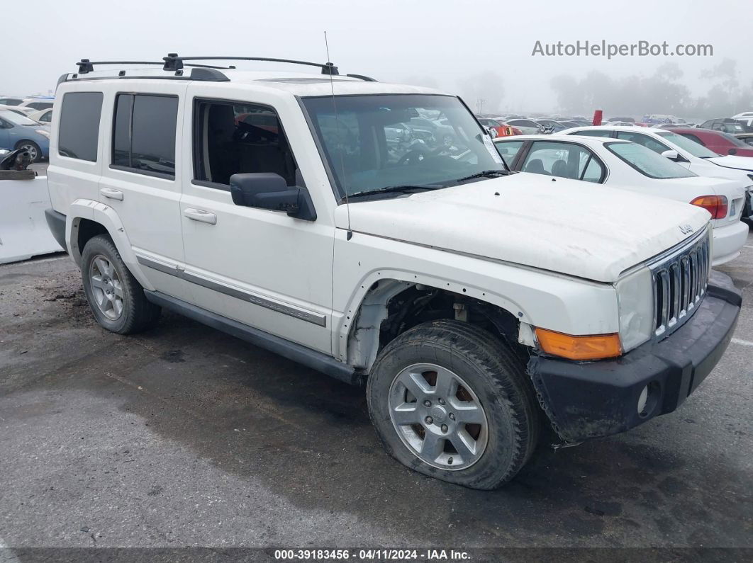
<path fill-rule="evenodd" d="M 147 300 L 108 235 L 87 242 L 81 253 L 81 276 L 89 306 L 102 328 L 133 334 L 159 321 L 160 307 Z"/>

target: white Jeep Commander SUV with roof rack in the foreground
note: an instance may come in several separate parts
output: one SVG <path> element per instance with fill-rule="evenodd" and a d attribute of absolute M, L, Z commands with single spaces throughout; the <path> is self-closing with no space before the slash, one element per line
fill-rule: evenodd
<path fill-rule="evenodd" d="M 477 489 L 547 420 L 671 412 L 727 347 L 706 210 L 511 173 L 434 89 L 194 59 L 59 80 L 47 218 L 104 328 L 168 307 L 365 383 L 392 456 Z"/>

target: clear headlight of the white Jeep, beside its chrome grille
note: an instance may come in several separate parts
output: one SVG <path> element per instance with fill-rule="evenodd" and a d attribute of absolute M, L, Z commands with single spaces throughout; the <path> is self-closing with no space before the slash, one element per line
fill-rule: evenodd
<path fill-rule="evenodd" d="M 654 328 L 654 286 L 651 270 L 640 268 L 617 282 L 620 341 L 624 352 L 651 337 Z"/>

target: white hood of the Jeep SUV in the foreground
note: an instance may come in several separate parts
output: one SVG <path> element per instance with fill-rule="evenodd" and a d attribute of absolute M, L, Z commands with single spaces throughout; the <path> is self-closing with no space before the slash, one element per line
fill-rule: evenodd
<path fill-rule="evenodd" d="M 354 232 L 608 283 L 709 222 L 679 201 L 525 172 L 349 207 Z M 347 229 L 345 205 L 335 224 Z"/>

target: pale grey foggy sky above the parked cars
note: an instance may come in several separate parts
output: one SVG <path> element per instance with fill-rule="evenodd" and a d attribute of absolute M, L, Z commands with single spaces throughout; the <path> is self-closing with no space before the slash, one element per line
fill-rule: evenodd
<path fill-rule="evenodd" d="M 325 29 L 331 59 L 343 74 L 437 86 L 463 95 L 474 109 L 478 98 L 486 98 L 485 111 L 556 110 L 550 80 L 557 74 L 651 76 L 668 61 L 678 63 L 680 81 L 693 95 L 706 95 L 709 80 L 701 74 L 723 59 L 736 60 L 741 84 L 753 81 L 749 0 L 36 0 L 29 13 L 23 2 L 17 8 L 3 17 L 0 95 L 47 93 L 82 57 L 160 60 L 177 52 L 325 61 Z M 602 39 L 712 44 L 714 56 L 531 55 L 537 40 Z"/>

